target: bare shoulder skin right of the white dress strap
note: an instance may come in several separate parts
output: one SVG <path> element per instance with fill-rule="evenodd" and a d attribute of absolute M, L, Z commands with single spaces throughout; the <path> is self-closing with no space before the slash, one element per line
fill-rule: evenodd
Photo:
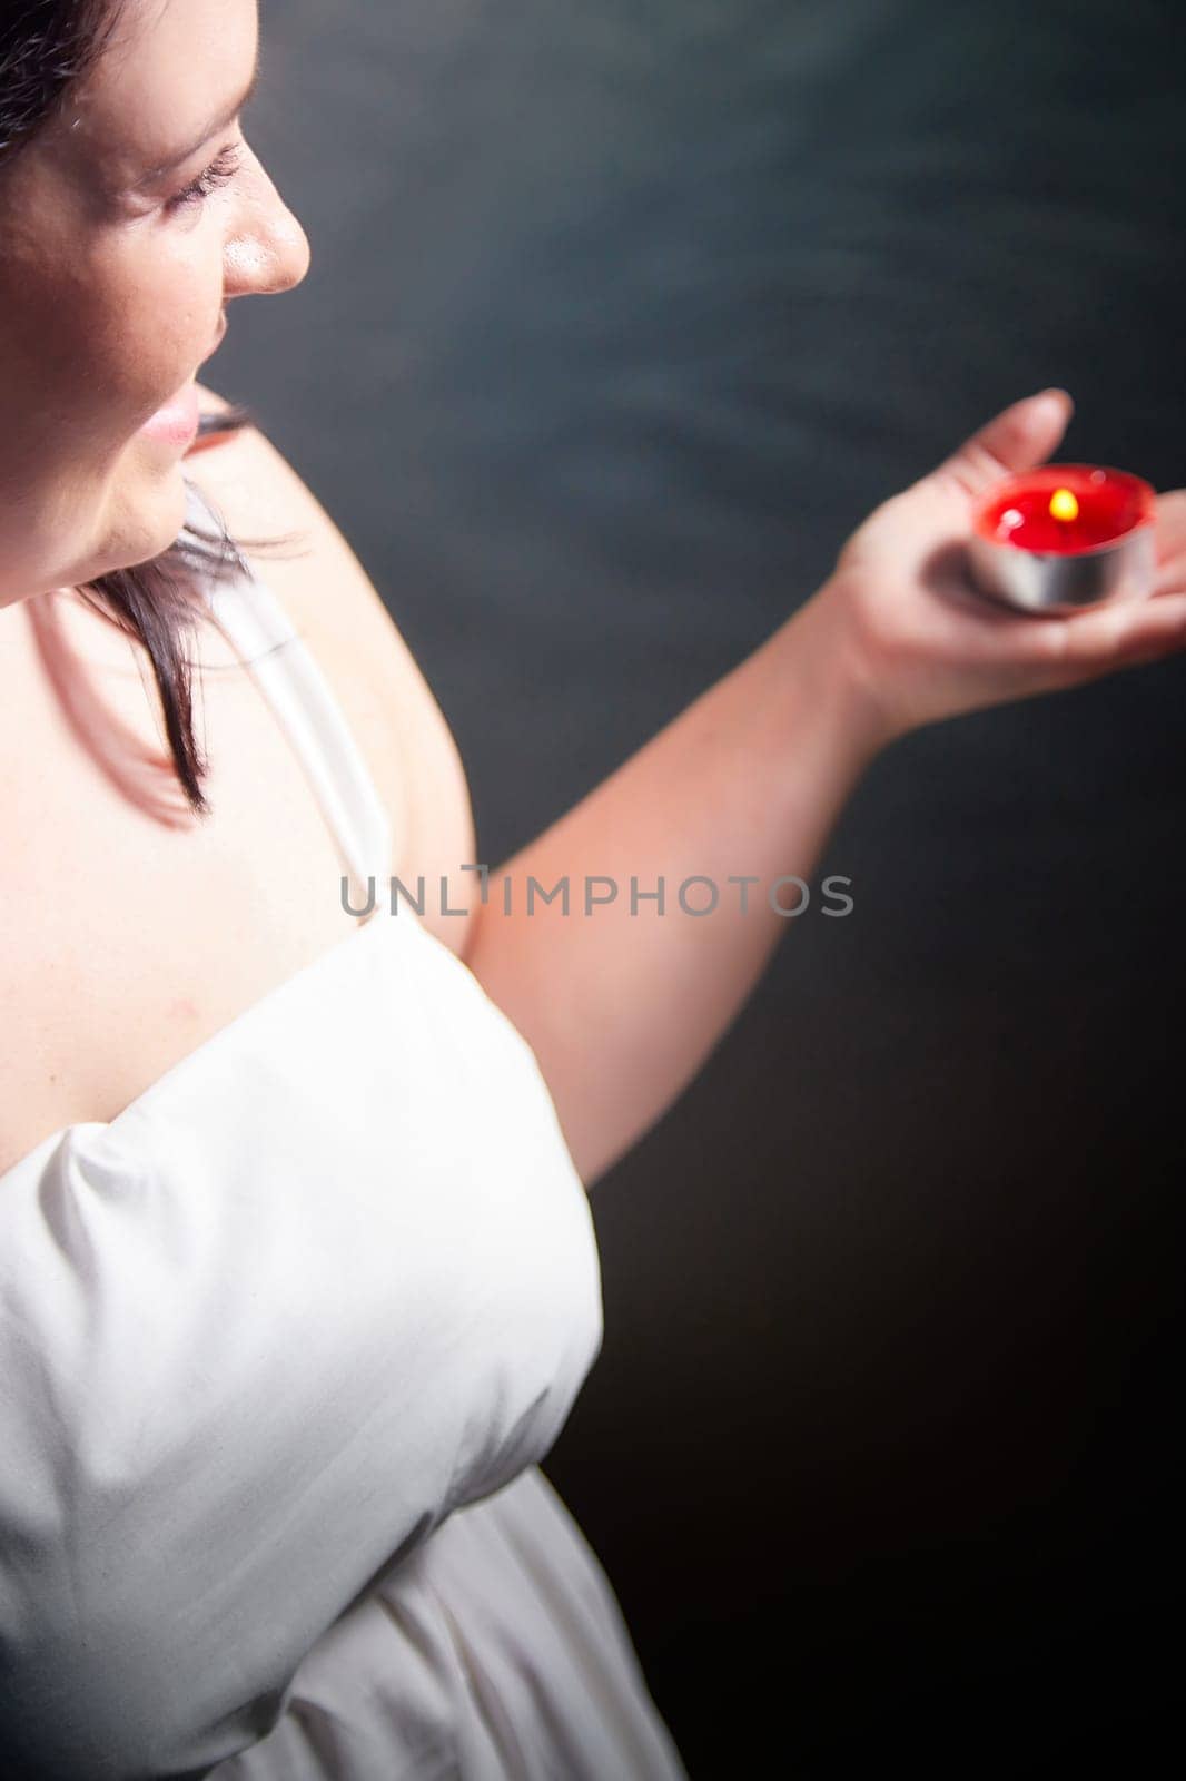
<path fill-rule="evenodd" d="M 228 410 L 198 385 L 205 413 Z M 301 476 L 255 426 L 210 435 L 187 456 L 201 488 L 283 604 L 329 680 L 392 823 L 392 873 L 426 882 L 424 923 L 463 953 L 475 860 L 465 768 L 445 716 L 370 575 Z M 292 536 L 296 534 L 296 536 Z M 251 540 L 290 538 L 258 556 Z M 440 878 L 449 882 L 447 905 Z M 379 887 L 381 894 L 386 885 Z"/>

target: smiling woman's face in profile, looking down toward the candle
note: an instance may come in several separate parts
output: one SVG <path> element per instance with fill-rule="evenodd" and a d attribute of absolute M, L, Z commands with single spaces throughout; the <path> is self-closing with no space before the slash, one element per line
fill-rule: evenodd
<path fill-rule="evenodd" d="M 62 116 L 0 162 L 0 629 L 173 543 L 185 442 L 141 427 L 192 385 L 228 297 L 308 271 L 237 121 L 256 43 L 256 0 L 125 0 Z"/>

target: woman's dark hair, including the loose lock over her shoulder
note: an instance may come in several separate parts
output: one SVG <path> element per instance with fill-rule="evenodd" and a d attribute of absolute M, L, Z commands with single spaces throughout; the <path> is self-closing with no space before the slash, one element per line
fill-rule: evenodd
<path fill-rule="evenodd" d="M 7 0 L 0 12 L 0 175 L 59 116 L 69 89 L 107 48 L 121 14 L 123 0 Z M 203 415 L 196 443 L 246 426 L 251 426 L 251 415 L 240 406 Z M 214 529 L 189 520 L 182 538 L 160 556 L 110 570 L 78 590 L 89 606 L 144 645 L 160 691 L 175 771 L 199 816 L 210 814 L 201 789 L 208 760 L 194 739 L 192 664 L 183 648 L 203 606 L 196 577 L 205 573 L 226 581 L 248 572 L 217 509 L 210 500 L 205 506 Z M 255 550 L 274 550 L 290 536 L 246 543 Z"/>

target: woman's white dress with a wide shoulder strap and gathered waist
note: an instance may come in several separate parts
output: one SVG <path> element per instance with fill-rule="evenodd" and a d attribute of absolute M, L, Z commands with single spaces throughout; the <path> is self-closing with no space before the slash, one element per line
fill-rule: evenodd
<path fill-rule="evenodd" d="M 390 914 L 274 595 L 205 588 L 244 657 L 283 641 L 249 671 L 376 910 L 0 1177 L 0 1772 L 684 1781 L 538 1469 L 602 1298 L 534 1053 Z"/>

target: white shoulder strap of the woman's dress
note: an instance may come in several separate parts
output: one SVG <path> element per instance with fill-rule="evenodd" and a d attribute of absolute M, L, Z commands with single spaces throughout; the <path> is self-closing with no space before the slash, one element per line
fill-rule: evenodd
<path fill-rule="evenodd" d="M 194 483 L 187 488 L 187 518 L 182 545 L 192 538 L 194 522 L 208 531 L 219 527 L 210 504 Z M 353 880 L 351 901 L 361 908 L 370 896 L 367 880 L 374 876 L 376 896 L 392 862 L 392 825 L 354 741 L 345 714 L 287 611 L 237 552 L 233 572 L 217 579 L 194 563 L 194 572 L 210 609 L 242 657 L 256 686 L 269 702 L 305 768 L 322 816 L 347 862 Z"/>

